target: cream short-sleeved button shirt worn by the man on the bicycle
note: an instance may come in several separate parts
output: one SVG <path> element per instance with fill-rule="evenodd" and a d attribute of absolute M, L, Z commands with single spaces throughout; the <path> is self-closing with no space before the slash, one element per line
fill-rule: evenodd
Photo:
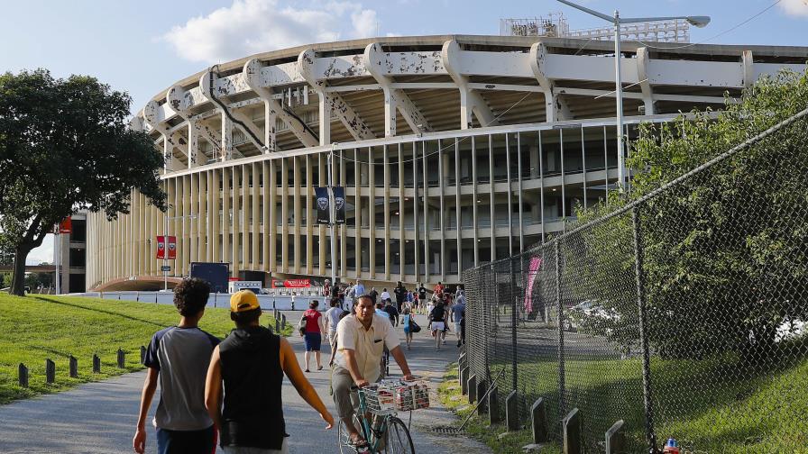
<path fill-rule="evenodd" d="M 399 335 L 389 319 L 373 313 L 371 327 L 365 330 L 356 315 L 348 315 L 336 327 L 337 351 L 334 361 L 337 366 L 347 370 L 348 361 L 342 350 L 353 350 L 359 372 L 372 383 L 381 375 L 381 355 L 385 346 L 387 350 L 399 346 Z"/>

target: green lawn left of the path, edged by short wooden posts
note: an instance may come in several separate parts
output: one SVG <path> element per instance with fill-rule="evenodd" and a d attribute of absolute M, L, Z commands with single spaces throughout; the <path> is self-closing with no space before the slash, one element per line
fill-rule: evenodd
<path fill-rule="evenodd" d="M 33 395 L 59 392 L 81 383 L 141 370 L 140 346 L 148 346 L 155 331 L 179 322 L 176 308 L 68 296 L 0 295 L 0 404 Z M 262 324 L 270 322 L 264 315 Z M 207 308 L 199 327 L 224 338 L 233 328 L 227 309 Z M 287 325 L 284 335 L 292 327 Z M 125 368 L 117 368 L 116 352 L 126 353 Z M 92 357 L 101 359 L 101 372 L 92 372 Z M 78 378 L 69 377 L 69 357 L 78 359 Z M 45 359 L 56 363 L 56 382 L 45 383 Z M 17 368 L 29 368 L 29 387 L 17 384 Z"/>

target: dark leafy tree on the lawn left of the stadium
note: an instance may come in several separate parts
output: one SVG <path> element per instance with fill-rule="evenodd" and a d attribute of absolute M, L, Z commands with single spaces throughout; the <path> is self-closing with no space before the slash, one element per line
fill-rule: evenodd
<path fill-rule="evenodd" d="M 28 253 L 71 213 L 115 219 L 133 189 L 165 211 L 163 159 L 146 133 L 127 127 L 131 103 L 94 77 L 0 76 L 0 243 L 14 251 L 12 294 L 23 295 Z"/>

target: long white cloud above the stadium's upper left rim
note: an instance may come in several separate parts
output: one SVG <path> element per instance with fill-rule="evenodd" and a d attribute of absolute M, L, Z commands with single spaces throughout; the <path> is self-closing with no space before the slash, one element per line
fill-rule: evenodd
<path fill-rule="evenodd" d="M 216 63 L 301 44 L 371 37 L 377 22 L 375 11 L 352 2 L 315 8 L 234 0 L 229 7 L 175 25 L 161 40 L 182 59 Z"/>

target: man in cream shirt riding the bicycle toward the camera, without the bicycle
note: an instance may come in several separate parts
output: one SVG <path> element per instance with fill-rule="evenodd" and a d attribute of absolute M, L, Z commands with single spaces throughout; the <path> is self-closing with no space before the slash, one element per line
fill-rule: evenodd
<path fill-rule="evenodd" d="M 337 343 L 331 386 L 334 390 L 336 413 L 342 420 L 354 446 L 366 445 L 353 425 L 353 408 L 357 402 L 352 387 L 364 387 L 379 381 L 381 355 L 386 347 L 399 364 L 405 380 L 413 380 L 407 359 L 399 347 L 399 335 L 390 320 L 374 313 L 374 301 L 369 295 L 356 300 L 356 314 L 348 315 L 337 326 Z"/>

